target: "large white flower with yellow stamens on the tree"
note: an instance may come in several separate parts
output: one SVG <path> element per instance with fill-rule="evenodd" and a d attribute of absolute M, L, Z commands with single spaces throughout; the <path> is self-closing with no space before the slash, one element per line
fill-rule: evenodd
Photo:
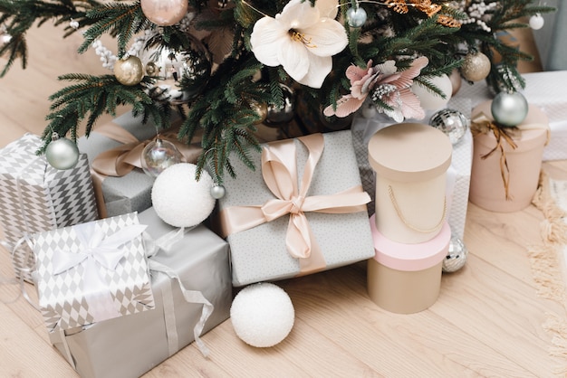
<path fill-rule="evenodd" d="M 337 0 L 291 0 L 275 18 L 256 22 L 250 43 L 258 61 L 280 64 L 293 80 L 321 88 L 332 70 L 332 55 L 349 43 L 344 27 L 335 21 Z"/>

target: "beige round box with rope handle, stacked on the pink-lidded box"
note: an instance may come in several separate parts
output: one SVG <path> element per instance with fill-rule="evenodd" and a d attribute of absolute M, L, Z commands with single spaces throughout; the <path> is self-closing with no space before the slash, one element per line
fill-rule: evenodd
<path fill-rule="evenodd" d="M 376 227 L 391 241 L 421 243 L 447 218 L 446 174 L 453 146 L 437 128 L 401 123 L 370 138 L 376 172 Z"/>

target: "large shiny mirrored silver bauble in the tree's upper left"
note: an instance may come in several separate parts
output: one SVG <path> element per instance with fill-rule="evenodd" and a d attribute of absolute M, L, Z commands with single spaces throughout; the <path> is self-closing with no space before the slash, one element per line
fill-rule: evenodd
<path fill-rule="evenodd" d="M 211 58 L 197 38 L 187 35 L 188 44 L 181 51 L 167 46 L 147 45 L 139 53 L 146 74 L 156 78 L 162 99 L 173 105 L 195 99 L 207 86 L 211 75 Z"/>

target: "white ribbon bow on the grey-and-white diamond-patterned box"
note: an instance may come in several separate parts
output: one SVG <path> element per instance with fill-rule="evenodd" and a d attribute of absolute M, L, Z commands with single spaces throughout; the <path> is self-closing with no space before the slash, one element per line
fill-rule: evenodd
<path fill-rule="evenodd" d="M 83 267 L 82 295 L 94 322 L 120 317 L 101 269 L 114 271 L 126 253 L 120 247 L 141 235 L 146 227 L 134 224 L 107 236 L 94 222 L 78 224 L 72 226 L 72 230 L 80 242 L 80 250 L 53 251 L 53 275 Z"/>

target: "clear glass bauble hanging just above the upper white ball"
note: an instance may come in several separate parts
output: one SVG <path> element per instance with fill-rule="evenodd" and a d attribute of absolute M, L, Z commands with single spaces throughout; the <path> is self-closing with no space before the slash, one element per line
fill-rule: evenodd
<path fill-rule="evenodd" d="M 181 163 L 183 155 L 173 143 L 157 137 L 144 147 L 141 166 L 146 175 L 158 177 L 166 168 Z"/>

